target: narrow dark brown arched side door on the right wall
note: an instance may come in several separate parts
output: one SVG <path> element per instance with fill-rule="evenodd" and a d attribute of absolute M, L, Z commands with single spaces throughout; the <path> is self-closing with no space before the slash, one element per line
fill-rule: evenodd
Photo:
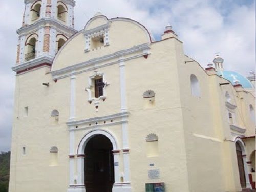
<path fill-rule="evenodd" d="M 242 147 L 240 146 L 239 142 L 236 142 L 236 151 L 237 151 L 237 158 L 238 158 L 240 183 L 241 183 L 242 188 L 246 188 L 243 151 L 242 151 Z"/>

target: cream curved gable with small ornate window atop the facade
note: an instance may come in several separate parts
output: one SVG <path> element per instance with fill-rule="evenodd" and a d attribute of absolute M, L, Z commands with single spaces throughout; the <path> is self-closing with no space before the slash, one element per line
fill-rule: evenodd
<path fill-rule="evenodd" d="M 134 49 L 142 53 L 141 46 L 150 45 L 151 42 L 152 37 L 148 30 L 135 20 L 119 17 L 108 19 L 103 15 L 96 15 L 83 30 L 70 37 L 60 48 L 54 58 L 52 71 L 122 50 Z"/>

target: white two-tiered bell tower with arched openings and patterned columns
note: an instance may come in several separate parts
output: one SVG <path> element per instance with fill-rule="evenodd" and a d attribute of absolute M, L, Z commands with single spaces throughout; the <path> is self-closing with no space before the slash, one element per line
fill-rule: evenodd
<path fill-rule="evenodd" d="M 23 24 L 17 30 L 17 74 L 37 67 L 51 67 L 74 29 L 74 0 L 25 0 Z"/>

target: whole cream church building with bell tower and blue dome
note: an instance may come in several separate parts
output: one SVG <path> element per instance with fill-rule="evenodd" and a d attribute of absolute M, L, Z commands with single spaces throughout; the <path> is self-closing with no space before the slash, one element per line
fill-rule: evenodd
<path fill-rule="evenodd" d="M 73 0 L 25 0 L 17 30 L 10 192 L 255 188 L 255 74 L 206 69 L 171 26 L 156 41 Z"/>

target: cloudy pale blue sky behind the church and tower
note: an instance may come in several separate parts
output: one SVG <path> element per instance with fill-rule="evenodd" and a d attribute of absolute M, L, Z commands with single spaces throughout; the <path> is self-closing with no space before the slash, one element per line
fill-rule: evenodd
<path fill-rule="evenodd" d="M 53 0 L 52 0 L 53 1 Z M 16 30 L 22 26 L 23 0 L 0 0 L 0 152 L 9 151 L 13 118 Z M 226 70 L 245 76 L 255 68 L 253 0 L 76 0 L 75 29 L 100 11 L 108 18 L 129 17 L 160 39 L 169 23 L 186 55 L 206 67 L 216 53 Z"/>

